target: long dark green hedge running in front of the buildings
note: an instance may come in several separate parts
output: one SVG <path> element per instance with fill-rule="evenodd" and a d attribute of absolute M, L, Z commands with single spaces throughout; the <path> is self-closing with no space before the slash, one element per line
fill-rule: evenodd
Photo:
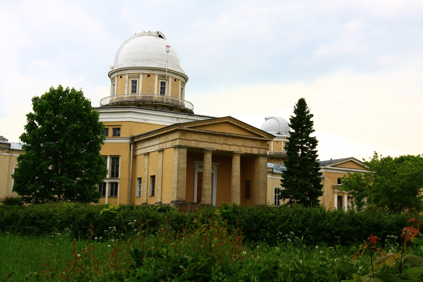
<path fill-rule="evenodd" d="M 90 224 L 97 236 L 106 236 L 104 230 L 115 227 L 117 234 L 133 230 L 134 220 L 148 220 L 148 225 L 158 230 L 165 217 L 173 230 L 182 230 L 198 216 L 198 211 L 181 214 L 169 206 L 89 205 L 78 203 L 52 203 L 30 206 L 0 206 L 0 230 L 21 234 L 50 234 L 69 228 L 74 237 L 83 238 Z M 369 234 L 382 240 L 387 235 L 401 234 L 410 216 L 420 215 L 387 214 L 375 208 L 365 211 L 326 211 L 323 207 L 305 208 L 288 206 L 236 206 L 222 205 L 222 216 L 228 221 L 230 230 L 237 222 L 242 227 L 247 241 L 264 241 L 274 245 L 283 241 L 283 235 L 293 232 L 310 243 L 356 244 Z M 102 210 L 105 211 L 101 212 Z M 212 208 L 202 208 L 203 219 L 208 218 Z M 229 230 L 229 231 L 230 231 Z"/>

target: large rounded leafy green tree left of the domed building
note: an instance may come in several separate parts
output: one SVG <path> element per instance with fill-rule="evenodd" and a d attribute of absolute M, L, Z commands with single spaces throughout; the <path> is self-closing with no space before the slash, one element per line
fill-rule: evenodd
<path fill-rule="evenodd" d="M 82 90 L 61 85 L 32 99 L 20 140 L 13 189 L 25 203 L 98 202 L 96 184 L 107 174 L 100 156 L 104 125 Z"/>

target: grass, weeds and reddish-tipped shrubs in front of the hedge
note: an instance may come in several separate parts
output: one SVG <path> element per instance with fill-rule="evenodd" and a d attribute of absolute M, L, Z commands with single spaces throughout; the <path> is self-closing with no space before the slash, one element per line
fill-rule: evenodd
<path fill-rule="evenodd" d="M 228 233 L 221 214 L 222 209 L 214 211 L 209 219 L 198 214 L 182 232 L 172 231 L 166 220 L 156 231 L 147 222 L 134 221 L 129 224 L 132 234 L 128 232 L 120 239 L 113 239 L 112 235 L 103 238 L 90 230 L 86 243 L 72 241 L 70 230 L 49 237 L 2 233 L 0 271 L 9 276 L 9 281 L 422 279 L 423 267 L 419 266 L 423 261 L 423 241 L 416 237 L 420 233 L 415 219 L 404 228 L 401 244 L 400 230 L 385 242 L 371 235 L 360 247 L 308 244 L 305 238 L 289 231 L 285 235 L 279 232 L 283 240 L 277 246 L 269 246 L 264 242 L 245 245 L 242 230 L 236 227 Z"/>

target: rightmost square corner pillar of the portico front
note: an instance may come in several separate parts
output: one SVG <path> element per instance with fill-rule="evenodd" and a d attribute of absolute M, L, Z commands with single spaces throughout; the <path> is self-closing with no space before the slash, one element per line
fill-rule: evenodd
<path fill-rule="evenodd" d="M 254 162 L 254 203 L 267 203 L 267 155 L 258 155 Z"/>

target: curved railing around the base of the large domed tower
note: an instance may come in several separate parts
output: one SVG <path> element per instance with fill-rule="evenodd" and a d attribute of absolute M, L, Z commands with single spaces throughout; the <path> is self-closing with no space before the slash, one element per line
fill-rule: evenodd
<path fill-rule="evenodd" d="M 119 104 L 119 103 L 148 103 L 148 104 L 167 104 L 175 107 L 182 107 L 190 111 L 194 110 L 194 105 L 188 101 L 168 97 L 162 95 L 151 95 L 151 94 L 124 94 L 124 95 L 115 95 L 109 96 L 101 99 L 100 107 L 110 104 Z"/>

